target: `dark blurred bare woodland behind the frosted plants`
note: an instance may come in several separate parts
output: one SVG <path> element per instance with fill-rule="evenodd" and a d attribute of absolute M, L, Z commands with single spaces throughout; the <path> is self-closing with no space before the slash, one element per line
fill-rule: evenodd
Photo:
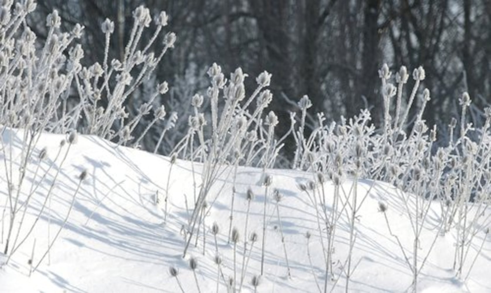
<path fill-rule="evenodd" d="M 42 37 L 47 14 L 57 9 L 63 29 L 84 25 L 83 61 L 90 65 L 103 58 L 101 23 L 114 21 L 109 56 L 119 58 L 132 11 L 141 4 L 154 15 L 165 10 L 178 41 L 127 107 L 135 113 L 131 109 L 145 101 L 148 88 L 166 80 L 172 89 L 160 102 L 179 115 L 178 130 L 187 125 L 191 96 L 206 91 L 205 71 L 213 62 L 224 72 L 241 66 L 251 76 L 273 73 L 270 107 L 284 121 L 280 133 L 288 129 L 289 112 L 299 110 L 296 102 L 304 94 L 312 100 L 312 114 L 339 120 L 370 108 L 373 122 L 380 123 L 377 70 L 384 62 L 392 71 L 401 65 L 426 69 L 421 91 L 432 92 L 425 117 L 429 125 L 446 127 L 458 117 L 464 90 L 473 101 L 474 124 L 482 123 L 482 110 L 491 101 L 490 0 L 38 0 L 29 22 Z M 253 82 L 249 78 L 251 88 Z M 153 149 L 160 134 L 152 131 L 145 149 Z M 161 153 L 168 154 L 178 133 L 166 138 Z"/>

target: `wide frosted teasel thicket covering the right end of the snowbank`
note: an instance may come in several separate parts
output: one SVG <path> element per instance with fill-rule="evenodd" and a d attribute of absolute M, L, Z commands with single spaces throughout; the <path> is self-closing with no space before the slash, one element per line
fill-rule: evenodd
<path fill-rule="evenodd" d="M 344 211 L 350 223 L 351 251 L 355 239 L 353 231 L 356 212 L 375 184 L 373 181 L 368 192 L 363 197 L 358 197 L 358 178 L 394 184 L 412 227 L 413 241 L 410 245 L 413 256 L 412 264 L 408 266 L 413 274 L 413 289 L 417 286 L 417 277 L 434 247 L 436 237 L 450 231 L 457 234 L 454 268 L 457 275 L 461 276 L 467 252 L 479 231 L 478 227 L 490 223 L 489 218 L 480 215 L 490 204 L 487 194 L 491 188 L 491 170 L 488 164 L 491 155 L 491 110 L 485 110 L 483 126 L 479 129 L 473 128 L 471 124 L 466 123 L 471 100 L 469 95 L 464 93 L 460 99 L 460 123 L 453 118 L 449 125 L 448 145 L 436 145 L 436 127 L 428 126 L 423 119 L 424 110 L 430 101 L 430 91 L 420 89 L 426 77 L 424 69 L 418 67 L 412 72 L 413 86 L 407 98 L 404 96 L 404 86 L 408 83 L 410 74 L 405 66 L 395 74 L 395 85 L 391 83 L 393 75 L 386 64 L 379 71 L 379 76 L 382 80 L 383 99 L 383 123 L 379 129 L 370 124 L 371 116 L 367 110 L 361 110 L 358 116 L 349 119 L 342 117 L 337 123 L 326 123 L 326 118 L 321 113 L 317 115 L 318 127 L 312 129 L 309 137 L 304 137 L 305 111 L 310 102 L 306 96 L 300 99 L 298 105 L 302 111 L 302 118 L 300 125 L 293 131 L 297 144 L 293 166 L 310 171 L 314 178 L 315 174 L 321 174 L 331 179 L 334 183 L 333 212 L 328 215 L 322 208 L 318 208 L 326 206 L 326 203 L 320 196 L 319 189 L 319 197 L 316 197 L 315 191 L 309 191 L 313 189 L 307 186 L 311 183 L 300 184 L 300 189 L 307 192 L 317 211 L 317 218 L 330 220 L 326 221 L 328 239 L 333 240 L 331 237 L 334 236 L 336 221 Z M 409 117 L 411 109 L 415 109 L 414 117 Z M 457 127 L 457 124 L 460 124 L 460 127 Z M 344 178 L 353 182 L 348 192 L 343 188 L 343 184 L 340 184 Z M 318 178 L 317 181 L 322 181 L 322 178 Z M 318 202 L 315 200 L 317 198 Z M 437 233 L 435 238 L 423 241 L 421 233 L 428 224 L 430 205 L 435 201 L 440 205 Z M 320 225 L 318 226 L 321 230 Z M 396 236 L 392 233 L 391 235 Z M 331 246 L 334 241 L 327 243 L 327 246 Z M 322 234 L 321 244 L 325 247 Z M 408 244 L 399 245 L 402 248 Z M 330 257 L 331 249 L 332 247 L 327 248 L 326 260 Z M 418 256 L 421 254 L 423 257 Z M 350 258 L 351 253 L 347 263 L 347 279 L 351 274 Z M 405 256 L 405 259 L 409 258 Z M 328 267 L 329 261 L 326 263 Z"/>

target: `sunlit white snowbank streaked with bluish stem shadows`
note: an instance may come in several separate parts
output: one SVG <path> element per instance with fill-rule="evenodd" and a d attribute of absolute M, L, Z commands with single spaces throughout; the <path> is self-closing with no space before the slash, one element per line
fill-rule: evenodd
<path fill-rule="evenodd" d="M 12 134 L 12 135 L 11 135 Z M 6 147 L 13 147 L 14 153 L 22 146 L 22 135 L 10 133 L 3 135 Z M 10 140 L 6 140 L 10 138 Z M 64 136 L 43 134 L 37 144 L 36 152 L 47 146 L 49 159 L 41 164 L 46 170 L 49 160 L 59 148 Z M 67 147 L 67 146 L 64 146 Z M 3 156 L 3 154 L 2 154 Z M 3 161 L 4 158 L 1 158 Z M 15 160 L 15 156 L 13 159 Z M 57 164 L 57 163 L 56 163 Z M 56 165 L 55 164 L 55 165 Z M 29 164 L 27 182 L 33 177 L 35 163 Z M 1 164 L 1 176 L 5 165 Z M 57 166 L 44 179 L 33 195 L 26 221 L 33 221 L 41 206 L 44 194 L 53 179 Z M 44 259 L 38 269 L 29 277 L 28 261 L 32 253 L 33 263 L 37 263 L 48 247 L 48 222 L 51 234 L 62 225 L 70 206 L 73 194 L 79 184 L 79 175 L 86 168 L 87 178 L 82 182 L 76 195 L 75 205 L 70 217 L 55 242 L 50 260 Z M 200 165 L 194 164 L 199 174 Z M 198 261 L 197 281 L 201 292 L 216 292 L 217 265 L 214 263 L 215 242 L 211 227 L 218 223 L 218 251 L 222 256 L 221 268 L 225 278 L 233 275 L 233 244 L 228 242 L 230 200 L 233 184 L 229 174 L 223 174 L 213 186 L 207 198 L 211 205 L 205 217 L 206 249 L 203 251 L 203 238 L 199 235 L 197 246 L 194 239 L 187 257 L 182 258 L 185 239 L 181 233 L 183 225 L 188 223 L 192 210 L 186 210 L 186 202 L 192 203 L 194 191 L 191 163 L 177 160 L 172 167 L 168 193 L 168 217 L 164 225 L 164 201 L 170 159 L 133 148 L 116 146 L 95 136 L 81 136 L 73 145 L 64 162 L 55 184 L 50 208 L 43 212 L 33 234 L 8 264 L 0 269 L 0 292 L 181 292 L 174 277 L 168 271 L 170 266 L 179 270 L 179 281 L 185 292 L 197 292 L 189 258 Z M 232 170 L 232 169 L 228 169 Z M 316 212 L 309 198 L 297 187 L 312 179 L 311 173 L 291 170 L 267 170 L 272 176 L 272 185 L 268 188 L 267 234 L 265 249 L 265 272 L 257 287 L 257 292 L 318 292 L 313 275 L 324 289 L 325 263 L 319 241 Z M 262 170 L 239 168 L 236 179 L 234 227 L 238 228 L 237 249 L 238 276 L 242 267 L 244 224 L 246 218 L 246 190 L 250 187 L 255 194 L 251 202 L 248 231 L 255 231 L 259 240 L 252 248 L 246 278 L 242 292 L 254 292 L 251 279 L 260 273 L 261 237 L 265 187 L 261 186 Z M 196 175 L 196 178 L 199 176 Z M 0 208 L 3 209 L 6 198 L 6 179 L 0 177 Z M 39 177 L 37 178 L 39 180 Z M 198 182 L 199 184 L 199 179 Z M 344 182 L 346 190 L 352 186 L 350 180 Z M 330 181 L 325 184 L 327 203 L 333 193 Z M 26 184 L 26 188 L 30 184 Z M 350 282 L 350 292 L 404 292 L 411 286 L 412 275 L 408 269 L 400 247 L 385 224 L 379 202 L 387 204 L 386 215 L 391 223 L 393 234 L 398 235 L 411 260 L 412 237 L 410 221 L 405 212 L 400 195 L 393 186 L 383 182 L 359 180 L 358 192 L 364 194 L 370 187 L 369 195 L 363 202 L 355 223 L 356 241 L 353 248 L 355 270 Z M 283 196 L 279 202 L 281 223 L 276 216 L 273 190 Z M 161 198 L 158 205 L 156 194 Z M 6 205 L 6 202 L 5 202 Z M 440 205 L 431 205 L 429 220 L 424 227 L 421 239 L 420 261 L 437 233 L 437 219 Z M 1 210 L 0 210 L 1 212 Z M 489 210 L 487 211 L 489 213 Z M 50 221 L 48 221 L 50 218 Z M 435 222 L 435 223 L 433 223 Z M 283 230 L 287 255 L 291 267 L 291 278 L 287 276 L 286 262 L 279 227 Z M 349 223 L 341 217 L 336 227 L 336 241 L 333 253 L 334 275 L 341 276 L 328 280 L 328 291 L 344 292 L 345 279 L 341 273 L 349 252 Z M 313 266 L 307 257 L 307 239 L 311 238 L 309 250 Z M 22 233 L 25 233 L 23 231 Z M 21 234 L 22 234 L 21 233 Z M 483 237 L 488 237 L 465 282 L 455 277 L 452 269 L 454 260 L 454 233 L 436 238 L 435 247 L 430 254 L 418 278 L 418 292 L 491 292 L 491 242 L 489 234 L 479 233 L 469 250 L 469 260 L 473 260 Z M 2 237 L 4 242 L 4 238 Z M 430 243 L 429 243 L 430 242 Z M 2 251 L 4 243 L 1 243 Z M 425 246 L 426 245 L 426 246 Z M 250 242 L 247 246 L 250 248 Z M 249 249 L 247 249 L 247 254 Z M 0 253 L 0 264 L 6 259 Z M 468 265 L 464 267 L 464 275 Z M 237 284 L 238 285 L 238 284 Z M 227 292 L 220 278 L 219 292 Z M 237 286 L 238 287 L 238 286 Z"/>

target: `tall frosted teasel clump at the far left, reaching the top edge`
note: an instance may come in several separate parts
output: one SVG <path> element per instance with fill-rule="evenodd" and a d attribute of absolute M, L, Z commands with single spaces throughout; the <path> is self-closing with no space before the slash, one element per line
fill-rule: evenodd
<path fill-rule="evenodd" d="M 4 211 L 8 208 L 8 213 L 3 212 L 1 222 L 2 244 L 3 230 L 8 222 L 3 252 L 10 259 L 37 227 L 47 203 L 51 203 L 56 179 L 70 146 L 76 141 L 76 130 L 120 144 L 130 142 L 139 120 L 153 108 L 152 101 L 167 92 L 167 83 L 156 86 L 150 102 L 141 105 L 138 113 L 128 113 L 126 106 L 132 104 L 132 93 L 152 74 L 164 53 L 173 47 L 176 37 L 174 33 L 167 33 L 158 53 L 151 52 L 159 47 L 155 41 L 167 23 L 167 15 L 165 12 L 159 14 L 154 34 L 144 43 L 142 31 L 149 27 L 151 17 L 147 8 L 139 6 L 133 14 L 135 23 L 124 58 L 109 61 L 114 24 L 106 20 L 101 25 L 106 44 L 104 60 L 85 67 L 82 66 L 82 46 L 75 44 L 83 33 L 83 26 L 76 24 L 71 31 L 61 31 L 61 18 L 55 10 L 46 19 L 47 37 L 41 43 L 26 21 L 27 15 L 36 7 L 34 0 L 3 1 L 0 6 L 0 141 L 7 184 Z M 157 105 L 153 120 L 139 132 L 133 144 L 137 146 L 150 127 L 164 117 L 164 108 Z M 64 155 L 61 148 L 65 143 L 60 145 L 54 160 L 45 162 L 47 150 L 38 151 L 37 148 L 42 132 L 70 133 Z M 20 137 L 21 146 L 12 144 L 14 136 Z M 39 160 L 36 152 L 39 152 Z M 42 165 L 47 168 L 43 169 Z M 50 174 L 53 167 L 56 167 L 55 174 Z M 32 169 L 35 171 L 29 188 L 26 179 Z M 45 173 L 39 174 L 39 170 Z M 36 207 L 34 222 L 26 227 L 24 218 L 32 208 L 31 197 L 38 192 L 46 176 L 53 176 L 51 186 L 43 195 L 41 205 Z M 56 236 L 51 239 L 49 231 L 51 214 L 48 214 L 48 222 L 49 255 L 56 239 Z"/>

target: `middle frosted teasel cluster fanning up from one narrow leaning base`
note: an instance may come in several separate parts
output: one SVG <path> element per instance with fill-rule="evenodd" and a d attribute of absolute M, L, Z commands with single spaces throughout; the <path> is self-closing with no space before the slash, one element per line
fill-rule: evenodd
<path fill-rule="evenodd" d="M 188 134 L 173 151 L 182 158 L 203 163 L 201 187 L 188 229 L 191 237 L 195 233 L 201 206 L 218 176 L 225 174 L 231 166 L 240 164 L 240 161 L 245 162 L 245 165 L 256 162 L 258 166 L 270 168 L 282 146 L 281 140 L 274 139 L 277 117 L 270 112 L 264 122 L 262 119 L 262 113 L 272 99 L 271 92 L 263 90 L 269 86 L 271 74 L 263 72 L 256 78 L 257 88 L 247 99 L 244 86 L 247 75 L 242 69 L 235 70 L 228 83 L 216 63 L 210 67 L 208 75 L 212 80 L 208 88 L 211 121 L 207 121 L 204 114 L 199 113 L 203 97 L 196 95 L 192 101 L 194 116 L 189 119 Z M 218 102 L 220 93 L 224 97 L 223 105 Z M 251 114 L 249 109 L 254 99 L 257 103 Z M 183 255 L 187 253 L 190 239 L 185 245 Z"/>

